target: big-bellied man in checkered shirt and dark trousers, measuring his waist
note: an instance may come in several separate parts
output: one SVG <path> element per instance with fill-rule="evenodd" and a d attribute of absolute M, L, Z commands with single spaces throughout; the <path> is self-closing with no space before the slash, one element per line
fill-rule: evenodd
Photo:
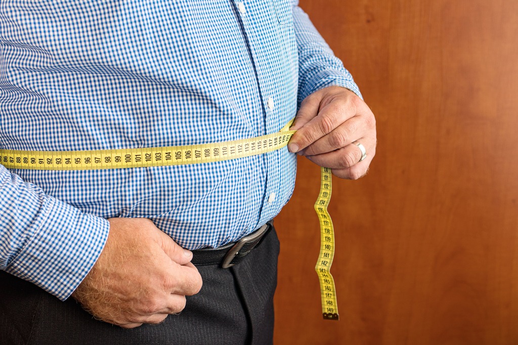
<path fill-rule="evenodd" d="M 0 25 L 2 149 L 221 142 L 295 114 L 298 130 L 289 150 L 224 162 L 0 167 L 0 342 L 271 342 L 264 225 L 291 196 L 294 153 L 357 179 L 376 148 L 372 112 L 297 2 L 15 1 Z"/>

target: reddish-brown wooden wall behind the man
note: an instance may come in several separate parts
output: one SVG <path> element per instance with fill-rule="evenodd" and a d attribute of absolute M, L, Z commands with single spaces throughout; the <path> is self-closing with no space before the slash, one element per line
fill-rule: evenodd
<path fill-rule="evenodd" d="M 299 160 L 276 344 L 518 344 L 518 2 L 301 0 L 377 117 L 334 179 L 340 321 L 321 316 L 319 168 Z"/>

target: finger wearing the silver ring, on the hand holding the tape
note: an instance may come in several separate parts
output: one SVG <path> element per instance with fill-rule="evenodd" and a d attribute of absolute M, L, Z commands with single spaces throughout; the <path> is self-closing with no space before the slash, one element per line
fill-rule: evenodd
<path fill-rule="evenodd" d="M 369 144 L 369 140 L 367 140 L 366 138 L 362 138 L 357 141 L 366 143 L 364 146 L 367 155 L 366 159 L 364 159 L 364 161 L 362 162 L 360 162 L 363 156 L 362 150 L 359 149 L 359 147 L 354 145 L 353 143 L 350 143 L 346 147 L 332 152 L 316 154 L 307 157 L 311 162 L 331 169 L 350 168 L 359 163 L 364 163 L 363 165 L 365 166 L 365 161 L 367 160 L 367 158 L 369 158 L 368 161 L 370 161 L 372 160 L 372 157 L 375 155 L 376 147 L 375 145 Z M 367 166 L 368 164 L 365 166 L 365 170 Z"/>

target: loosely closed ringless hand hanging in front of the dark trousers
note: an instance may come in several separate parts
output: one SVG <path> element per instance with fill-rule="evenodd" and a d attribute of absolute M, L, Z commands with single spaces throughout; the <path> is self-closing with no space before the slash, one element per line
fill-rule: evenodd
<path fill-rule="evenodd" d="M 124 328 L 159 323 L 202 288 L 192 252 L 144 218 L 111 218 L 97 262 L 72 296 L 95 318 Z"/>

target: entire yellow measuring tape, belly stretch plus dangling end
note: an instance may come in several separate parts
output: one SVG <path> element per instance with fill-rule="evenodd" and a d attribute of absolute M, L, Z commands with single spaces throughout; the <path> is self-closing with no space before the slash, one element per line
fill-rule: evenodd
<path fill-rule="evenodd" d="M 199 145 L 89 151 L 0 150 L 0 163 L 11 169 L 95 170 L 219 162 L 278 150 L 296 131 L 291 122 L 279 132 L 260 137 Z M 321 249 L 315 270 L 320 279 L 322 313 L 338 320 L 335 283 L 329 273 L 335 252 L 333 223 L 327 213 L 331 196 L 331 169 L 321 168 L 320 195 L 315 203 L 321 227 Z"/>

